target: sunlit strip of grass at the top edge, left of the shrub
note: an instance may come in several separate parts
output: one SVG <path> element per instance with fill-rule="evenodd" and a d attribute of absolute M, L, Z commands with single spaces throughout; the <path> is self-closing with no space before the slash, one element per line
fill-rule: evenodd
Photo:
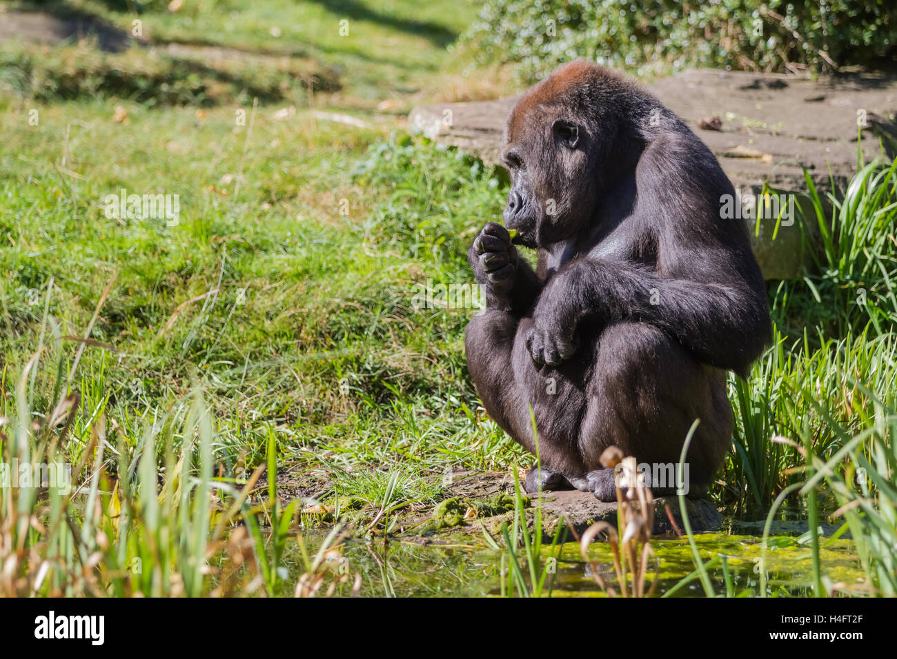
<path fill-rule="evenodd" d="M 6 3 L 19 9 L 47 4 Z M 344 86 L 342 107 L 373 109 L 396 100 L 389 111 L 408 109 L 408 96 L 440 89 L 447 48 L 473 20 L 473 0 L 419 3 L 413 0 L 199 0 L 175 13 L 168 3 L 68 0 L 51 7 L 89 14 L 130 33 L 142 21 L 147 42 L 234 48 L 268 55 L 309 58 L 334 67 Z M 348 21 L 348 34 L 344 34 Z M 274 36 L 276 34 L 277 36 Z"/>

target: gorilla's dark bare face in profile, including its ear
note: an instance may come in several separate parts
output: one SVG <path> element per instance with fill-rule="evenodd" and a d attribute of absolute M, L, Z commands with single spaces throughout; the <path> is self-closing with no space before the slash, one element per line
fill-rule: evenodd
<path fill-rule="evenodd" d="M 597 208 L 594 136 L 559 114 L 563 108 L 526 108 L 509 117 L 501 157 L 511 176 L 505 225 L 518 242 L 544 247 L 588 226 Z M 523 110 L 523 111 L 521 111 Z"/>

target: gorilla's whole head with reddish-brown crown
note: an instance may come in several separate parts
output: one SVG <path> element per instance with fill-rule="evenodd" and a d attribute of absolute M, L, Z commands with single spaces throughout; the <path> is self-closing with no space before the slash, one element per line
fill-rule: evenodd
<path fill-rule="evenodd" d="M 638 161 L 646 97 L 583 61 L 527 91 L 508 117 L 501 147 L 511 176 L 504 221 L 518 230 L 515 242 L 543 247 L 593 225 L 603 191 Z"/>

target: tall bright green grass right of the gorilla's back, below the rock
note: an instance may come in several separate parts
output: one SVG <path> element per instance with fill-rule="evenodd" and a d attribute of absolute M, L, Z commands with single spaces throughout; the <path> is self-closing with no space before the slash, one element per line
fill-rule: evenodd
<path fill-rule="evenodd" d="M 808 438 L 827 459 L 867 429 L 876 404 L 897 403 L 897 163 L 859 164 L 843 195 L 827 195 L 830 211 L 807 186 L 814 214 L 799 221 L 821 236 L 808 246 L 814 268 L 771 286 L 775 342 L 746 381 L 730 379 L 738 427 L 726 481 L 756 509 L 794 482 L 797 452 L 771 437 Z"/>

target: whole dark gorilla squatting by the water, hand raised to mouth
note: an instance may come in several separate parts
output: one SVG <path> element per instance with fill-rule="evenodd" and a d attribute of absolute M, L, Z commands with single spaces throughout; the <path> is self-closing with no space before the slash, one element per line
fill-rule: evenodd
<path fill-rule="evenodd" d="M 486 411 L 533 454 L 535 415 L 527 491 L 614 501 L 605 448 L 675 464 L 699 419 L 688 488 L 706 493 L 732 437 L 726 371 L 745 376 L 771 341 L 747 229 L 720 213 L 735 190 L 717 159 L 648 91 L 582 61 L 519 100 L 501 159 L 505 226 L 468 251 L 486 308 L 465 347 Z M 535 270 L 517 246 L 536 249 Z"/>

